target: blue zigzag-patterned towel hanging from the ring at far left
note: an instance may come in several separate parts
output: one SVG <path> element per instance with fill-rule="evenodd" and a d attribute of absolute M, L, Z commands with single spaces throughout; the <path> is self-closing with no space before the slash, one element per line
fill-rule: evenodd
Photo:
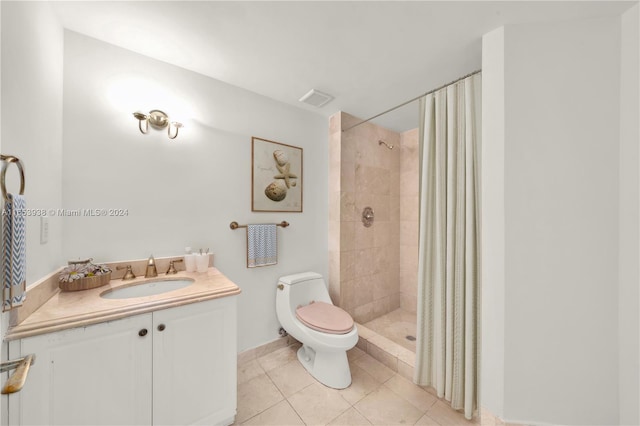
<path fill-rule="evenodd" d="M 25 199 L 22 195 L 7 194 L 2 215 L 2 239 L 4 253 L 4 298 L 2 310 L 8 311 L 22 306 L 26 292 L 26 230 Z"/>

